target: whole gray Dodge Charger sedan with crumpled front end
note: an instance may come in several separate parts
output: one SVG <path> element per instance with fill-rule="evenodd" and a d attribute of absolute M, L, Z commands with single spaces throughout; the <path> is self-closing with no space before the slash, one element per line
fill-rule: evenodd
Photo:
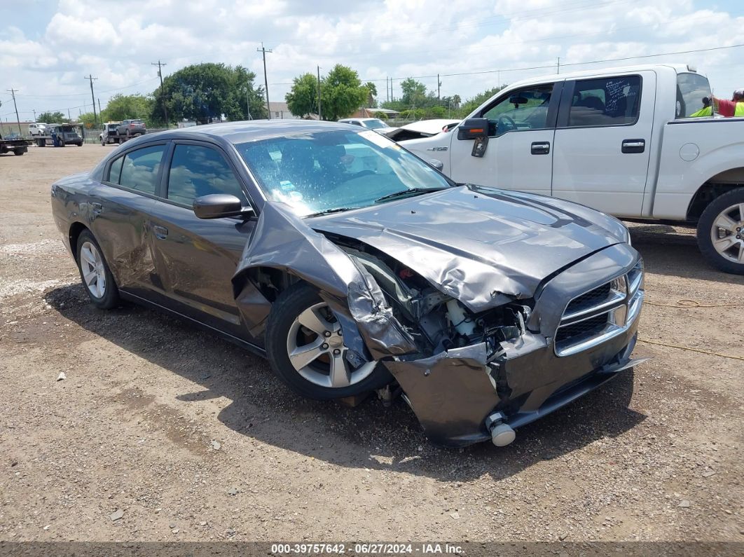
<path fill-rule="evenodd" d="M 454 184 L 357 126 L 144 135 L 51 198 L 95 306 L 185 317 L 313 399 L 400 394 L 441 445 L 505 445 L 638 363 L 618 220 Z"/>

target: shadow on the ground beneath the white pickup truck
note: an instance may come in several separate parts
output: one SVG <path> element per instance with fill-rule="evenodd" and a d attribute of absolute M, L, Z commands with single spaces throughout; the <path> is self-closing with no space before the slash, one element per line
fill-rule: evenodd
<path fill-rule="evenodd" d="M 716 283 L 742 283 L 738 275 L 718 271 L 702 257 L 694 228 L 687 232 L 678 231 L 677 228 L 664 224 L 630 227 L 633 247 L 644 257 L 646 271 Z"/>

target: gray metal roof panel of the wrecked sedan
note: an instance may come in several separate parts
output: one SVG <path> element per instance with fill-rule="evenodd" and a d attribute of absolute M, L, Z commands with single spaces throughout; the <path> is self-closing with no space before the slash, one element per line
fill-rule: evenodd
<path fill-rule="evenodd" d="M 323 122 L 318 120 L 248 120 L 243 122 L 211 123 L 205 126 L 169 129 L 165 132 L 148 134 L 143 138 L 220 138 L 231 144 L 259 141 L 262 139 L 280 138 L 285 135 L 328 132 L 332 130 L 359 131 L 358 126 L 340 122 Z"/>

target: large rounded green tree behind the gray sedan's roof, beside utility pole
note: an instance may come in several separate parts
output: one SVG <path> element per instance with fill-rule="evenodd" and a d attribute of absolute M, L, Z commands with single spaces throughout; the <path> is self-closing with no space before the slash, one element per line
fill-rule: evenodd
<path fill-rule="evenodd" d="M 263 88 L 254 86 L 256 74 L 243 66 L 208 62 L 188 65 L 163 80 L 162 91 L 153 92 L 153 120 L 161 121 L 164 95 L 171 120 L 228 120 L 265 118 Z"/>

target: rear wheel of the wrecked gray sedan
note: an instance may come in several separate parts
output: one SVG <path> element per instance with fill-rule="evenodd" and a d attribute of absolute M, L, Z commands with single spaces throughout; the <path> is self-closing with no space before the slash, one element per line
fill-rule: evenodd
<path fill-rule="evenodd" d="M 90 231 L 84 230 L 77 237 L 75 249 L 80 280 L 91 302 L 98 309 L 112 309 L 119 305 L 119 289 L 103 251 Z M 86 279 L 86 277 L 88 277 Z"/>

